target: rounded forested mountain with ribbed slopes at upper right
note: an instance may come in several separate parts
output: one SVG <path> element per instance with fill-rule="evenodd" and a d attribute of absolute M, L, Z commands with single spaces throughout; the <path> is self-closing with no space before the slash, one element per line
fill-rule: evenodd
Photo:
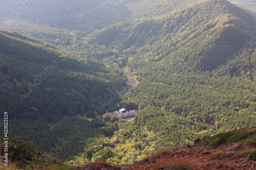
<path fill-rule="evenodd" d="M 172 63 L 169 67 L 176 69 L 206 71 L 226 63 L 246 40 L 254 42 L 255 24 L 255 19 L 236 6 L 212 1 L 165 17 L 118 23 L 89 35 L 85 42 L 129 49 L 127 54 L 134 50 L 138 54 L 129 58 L 141 59 L 140 65 L 146 59 Z M 134 61 L 133 67 L 138 67 Z"/>

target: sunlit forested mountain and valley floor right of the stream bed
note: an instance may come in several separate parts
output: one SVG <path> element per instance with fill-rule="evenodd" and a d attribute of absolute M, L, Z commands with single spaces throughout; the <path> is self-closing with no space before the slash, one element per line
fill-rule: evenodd
<path fill-rule="evenodd" d="M 140 81 L 124 103 L 136 103 L 140 112 L 134 125 L 118 125 L 109 141 L 113 147 L 94 154 L 87 147 L 69 163 L 81 165 L 92 158 L 131 164 L 158 147 L 191 143 L 203 133 L 254 126 L 255 26 L 255 19 L 227 1 L 207 1 L 86 37 L 89 45 L 124 54 L 126 69 Z"/>

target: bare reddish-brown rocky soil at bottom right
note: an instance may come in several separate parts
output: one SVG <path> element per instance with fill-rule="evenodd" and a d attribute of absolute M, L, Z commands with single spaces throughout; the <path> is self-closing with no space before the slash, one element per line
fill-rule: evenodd
<path fill-rule="evenodd" d="M 140 163 L 136 166 L 127 167 L 125 169 L 156 169 L 163 166 L 162 163 L 170 162 L 172 160 L 179 160 L 187 162 L 194 169 L 256 169 L 256 161 L 248 159 L 248 153 L 245 153 L 246 157 L 239 158 L 239 153 L 230 151 L 222 151 L 223 155 L 220 155 L 215 160 L 211 159 L 211 154 L 217 152 L 219 149 L 210 148 L 182 148 L 174 149 L 170 152 L 162 153 L 158 156 L 148 158 L 146 162 Z M 182 151 L 182 152 L 181 152 Z M 241 155 L 243 154 L 240 153 Z M 163 168 L 163 169 L 175 169 L 175 168 Z"/>

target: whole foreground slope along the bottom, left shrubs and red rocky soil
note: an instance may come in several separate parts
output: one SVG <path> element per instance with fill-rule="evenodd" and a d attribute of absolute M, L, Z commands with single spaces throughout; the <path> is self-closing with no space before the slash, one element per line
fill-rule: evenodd
<path fill-rule="evenodd" d="M 1 169 L 248 169 L 256 166 L 255 127 L 238 129 L 196 139 L 195 145 L 182 148 L 161 148 L 136 161 L 132 166 L 113 166 L 106 162 L 92 162 L 82 167 L 70 166 L 38 150 L 31 141 L 9 137 L 8 167 Z M 4 139 L 0 138 L 0 152 L 4 153 Z M 236 143 L 230 143 L 236 142 Z M 22 153 L 22 154 L 20 154 Z M 106 153 L 108 154 L 108 153 Z M 1 156 L 2 157 L 2 156 Z"/>

